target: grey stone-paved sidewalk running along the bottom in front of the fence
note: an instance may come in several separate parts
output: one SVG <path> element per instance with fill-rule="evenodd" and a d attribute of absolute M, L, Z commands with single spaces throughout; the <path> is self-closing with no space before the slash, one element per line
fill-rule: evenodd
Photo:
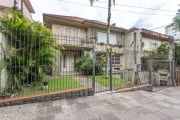
<path fill-rule="evenodd" d="M 0 120 L 180 120 L 180 87 L 4 107 Z"/>

